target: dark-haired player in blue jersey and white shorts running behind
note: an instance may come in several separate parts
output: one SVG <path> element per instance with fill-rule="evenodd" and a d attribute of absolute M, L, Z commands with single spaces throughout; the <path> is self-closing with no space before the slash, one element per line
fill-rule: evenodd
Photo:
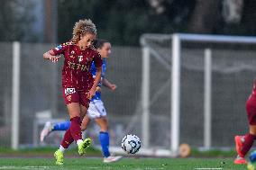
<path fill-rule="evenodd" d="M 81 130 L 86 130 L 87 124 L 91 120 L 96 121 L 96 123 L 100 127 L 98 138 L 99 138 L 102 152 L 104 155 L 104 162 L 111 163 L 111 162 L 118 161 L 120 158 L 122 158 L 122 157 L 114 157 L 110 155 L 110 152 L 108 149 L 109 147 L 108 122 L 106 120 L 105 106 L 101 100 L 102 85 L 105 85 L 112 91 L 114 91 L 116 88 L 116 85 L 110 83 L 105 78 L 106 58 L 108 58 L 111 53 L 111 44 L 107 40 L 95 40 L 94 46 L 99 52 L 101 58 L 103 59 L 102 74 L 101 74 L 102 81 L 97 86 L 98 90 L 96 91 L 96 95 L 90 101 L 87 115 L 82 121 Z M 92 63 L 91 72 L 94 76 L 96 75 L 96 67 L 94 62 Z M 43 130 L 41 131 L 41 141 L 43 141 L 43 139 L 46 136 L 48 136 L 51 131 L 67 130 L 69 129 L 69 126 L 70 126 L 70 121 L 64 121 L 64 122 L 56 123 L 54 125 L 51 125 L 50 121 L 46 122 Z"/>

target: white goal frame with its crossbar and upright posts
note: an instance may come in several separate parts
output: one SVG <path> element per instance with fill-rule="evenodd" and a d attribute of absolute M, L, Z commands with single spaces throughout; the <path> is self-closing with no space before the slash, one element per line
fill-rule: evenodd
<path fill-rule="evenodd" d="M 169 65 L 165 62 L 165 59 L 161 57 L 159 52 L 152 48 L 151 40 L 170 40 L 171 53 L 169 53 L 169 58 L 171 58 L 171 64 Z M 224 35 L 203 35 L 203 34 L 143 34 L 141 37 L 142 45 L 142 141 L 144 147 L 150 146 L 150 128 L 149 128 L 149 116 L 151 115 L 150 110 L 150 60 L 151 56 L 157 58 L 163 67 L 169 67 L 169 76 L 171 80 L 170 85 L 170 155 L 178 155 L 178 146 L 180 144 L 180 62 L 181 62 L 181 50 L 182 43 L 193 42 L 193 43 L 228 43 L 228 44 L 256 44 L 255 37 L 245 37 L 245 36 L 224 36 Z M 206 48 L 205 50 L 205 80 L 204 80 L 204 148 L 211 148 L 211 106 L 212 106 L 212 50 Z M 167 68 L 168 69 L 168 68 Z M 157 71 L 157 70 L 156 70 Z"/>

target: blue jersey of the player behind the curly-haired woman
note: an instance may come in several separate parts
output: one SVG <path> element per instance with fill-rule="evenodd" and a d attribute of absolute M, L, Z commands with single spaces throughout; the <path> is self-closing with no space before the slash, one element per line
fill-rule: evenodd
<path fill-rule="evenodd" d="M 98 83 L 97 86 L 101 87 L 102 85 L 102 79 L 105 77 L 105 69 L 106 69 L 106 59 L 104 58 L 102 60 L 102 71 L 101 71 L 101 80 L 100 82 Z M 95 77 L 96 76 L 96 66 L 95 66 L 95 63 L 93 62 L 92 63 L 92 66 L 91 66 L 91 73 L 92 75 Z M 91 99 L 91 101 L 94 101 L 94 100 L 101 100 L 101 92 L 96 92 L 95 96 L 93 96 L 93 98 Z"/>

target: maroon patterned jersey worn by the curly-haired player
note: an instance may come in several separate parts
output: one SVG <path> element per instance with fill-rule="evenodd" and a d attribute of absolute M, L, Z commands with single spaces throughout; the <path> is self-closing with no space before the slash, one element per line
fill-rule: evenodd
<path fill-rule="evenodd" d="M 91 74 L 91 64 L 94 61 L 96 67 L 101 67 L 102 59 L 96 49 L 79 49 L 74 42 L 66 42 L 52 49 L 55 55 L 64 55 L 62 68 L 63 88 L 73 87 L 77 90 L 89 90 L 94 78 Z"/>

